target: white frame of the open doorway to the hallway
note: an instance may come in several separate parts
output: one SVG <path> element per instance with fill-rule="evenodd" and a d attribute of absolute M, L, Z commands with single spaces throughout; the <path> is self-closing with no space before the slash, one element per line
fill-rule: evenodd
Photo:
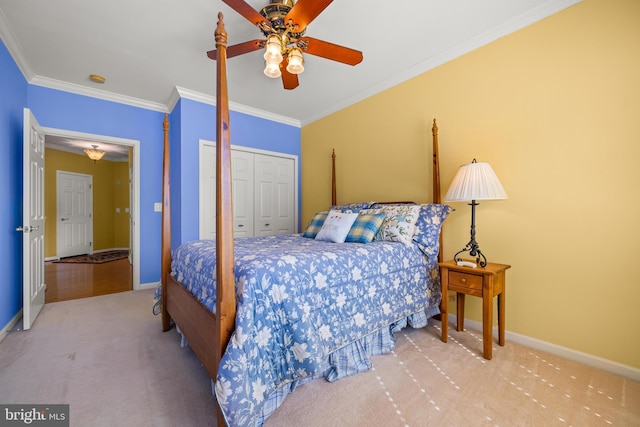
<path fill-rule="evenodd" d="M 45 135 L 50 136 L 58 136 L 63 138 L 70 139 L 81 139 L 84 141 L 97 142 L 97 143 L 105 143 L 105 144 L 116 144 L 116 145 L 125 145 L 127 147 L 132 147 L 132 156 L 133 161 L 132 167 L 133 171 L 131 173 L 131 189 L 132 193 L 130 193 L 132 204 L 129 209 L 129 213 L 131 215 L 130 221 L 130 234 L 132 236 L 132 246 L 130 248 L 130 253 L 132 256 L 131 265 L 133 267 L 133 276 L 132 276 L 132 285 L 133 290 L 140 290 L 142 287 L 140 286 L 140 141 L 135 139 L 127 139 L 127 138 L 118 138 L 114 136 L 107 135 L 98 135 L 86 132 L 76 132 L 65 129 L 56 129 L 56 128 L 48 128 L 43 127 Z M 46 144 L 45 144 L 46 147 Z M 46 167 L 46 166 L 45 166 Z M 45 195 L 46 197 L 46 195 Z"/>

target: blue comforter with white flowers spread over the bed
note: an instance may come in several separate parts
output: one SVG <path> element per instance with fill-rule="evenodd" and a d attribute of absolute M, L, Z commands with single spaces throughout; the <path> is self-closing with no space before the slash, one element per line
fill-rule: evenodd
<path fill-rule="evenodd" d="M 174 277 L 215 312 L 215 241 L 183 244 L 173 260 Z M 330 353 L 435 314 L 441 300 L 437 260 L 398 242 L 239 238 L 235 275 L 236 329 L 215 386 L 231 426 L 260 424 L 272 396 L 322 375 Z"/>

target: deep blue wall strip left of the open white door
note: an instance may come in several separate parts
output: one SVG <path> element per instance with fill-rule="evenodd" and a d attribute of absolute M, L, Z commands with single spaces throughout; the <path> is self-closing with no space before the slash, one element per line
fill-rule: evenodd
<path fill-rule="evenodd" d="M 22 121 L 27 82 L 0 40 L 0 328 L 22 308 Z"/>

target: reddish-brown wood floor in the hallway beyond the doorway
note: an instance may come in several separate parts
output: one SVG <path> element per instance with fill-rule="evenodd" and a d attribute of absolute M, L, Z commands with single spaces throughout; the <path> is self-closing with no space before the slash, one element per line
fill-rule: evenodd
<path fill-rule="evenodd" d="M 46 262 L 45 304 L 130 291 L 133 289 L 132 272 L 126 258 L 104 264 Z"/>

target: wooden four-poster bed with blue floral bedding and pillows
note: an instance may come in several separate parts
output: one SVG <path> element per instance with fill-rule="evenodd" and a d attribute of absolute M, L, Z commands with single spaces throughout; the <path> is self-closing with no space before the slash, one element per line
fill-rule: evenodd
<path fill-rule="evenodd" d="M 303 234 L 234 240 L 226 32 L 218 18 L 216 240 L 182 244 L 172 259 L 165 116 L 162 325 L 166 331 L 173 320 L 215 383 L 218 425 L 262 425 L 297 386 L 369 370 L 371 355 L 393 349 L 395 331 L 439 314 L 440 228 L 452 209 L 439 204 L 434 120 L 432 204 L 338 206 L 334 154 L 332 205 Z M 345 218 L 349 234 L 326 238 L 335 229 L 325 225 Z M 356 224 L 362 229 L 354 232 Z M 335 243 L 340 238 L 346 242 Z"/>

